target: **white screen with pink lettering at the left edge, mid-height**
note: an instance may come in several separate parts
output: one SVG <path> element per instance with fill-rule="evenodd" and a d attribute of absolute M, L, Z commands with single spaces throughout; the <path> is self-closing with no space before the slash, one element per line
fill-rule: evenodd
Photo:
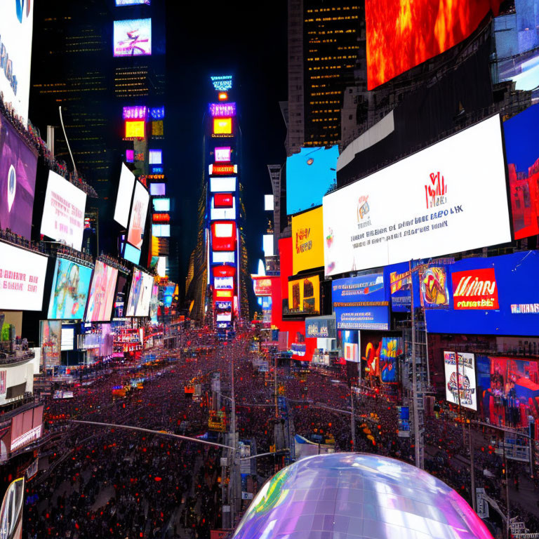
<path fill-rule="evenodd" d="M 0 241 L 0 309 L 41 311 L 47 260 Z"/>

